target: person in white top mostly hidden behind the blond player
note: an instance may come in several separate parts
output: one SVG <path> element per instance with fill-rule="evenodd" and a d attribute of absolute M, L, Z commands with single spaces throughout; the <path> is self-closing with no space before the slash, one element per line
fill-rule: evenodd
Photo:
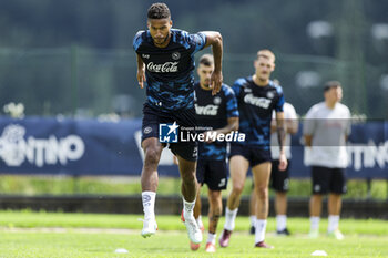
<path fill-rule="evenodd" d="M 275 79 L 274 83 L 279 85 L 279 82 Z M 270 155 L 272 155 L 272 172 L 270 172 L 270 187 L 276 192 L 275 195 L 275 213 L 276 213 L 276 234 L 289 235 L 287 228 L 287 192 L 289 189 L 289 167 L 292 159 L 290 144 L 292 134 L 298 132 L 299 122 L 294 106 L 286 102 L 284 103 L 284 118 L 286 120 L 286 138 L 285 138 L 285 153 L 287 157 L 288 166 L 286 171 L 279 171 L 279 147 L 278 136 L 276 133 L 276 113 L 273 112 L 273 121 L 270 124 Z M 251 234 L 255 234 L 256 221 L 256 195 L 254 192 L 249 199 L 249 220 L 251 220 Z"/>

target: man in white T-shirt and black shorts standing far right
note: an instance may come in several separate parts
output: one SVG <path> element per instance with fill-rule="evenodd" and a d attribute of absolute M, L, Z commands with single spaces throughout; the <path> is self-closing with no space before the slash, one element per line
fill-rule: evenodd
<path fill-rule="evenodd" d="M 325 102 L 315 104 L 307 112 L 304 123 L 306 143 L 305 164 L 312 166 L 313 195 L 310 198 L 310 237 L 319 235 L 321 198 L 329 193 L 329 236 L 343 239 L 338 229 L 341 194 L 346 193 L 345 168 L 348 164 L 346 142 L 350 134 L 350 111 L 339 103 L 343 89 L 339 82 L 327 82 Z"/>

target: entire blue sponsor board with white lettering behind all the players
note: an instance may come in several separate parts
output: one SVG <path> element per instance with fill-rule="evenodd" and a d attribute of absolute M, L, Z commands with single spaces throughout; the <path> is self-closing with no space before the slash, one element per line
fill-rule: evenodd
<path fill-rule="evenodd" d="M 173 127 L 166 127 L 165 134 L 169 134 Z M 177 136 L 177 131 L 175 133 Z M 387 135 L 387 122 L 353 125 L 348 146 L 348 177 L 388 178 Z M 303 163 L 304 146 L 300 138 L 300 131 L 292 138 L 290 175 L 309 177 L 309 168 Z M 43 117 L 13 120 L 0 116 L 2 174 L 140 176 L 143 161 L 141 120 L 99 122 Z M 167 148 L 162 153 L 159 173 L 162 176 L 180 175 Z"/>

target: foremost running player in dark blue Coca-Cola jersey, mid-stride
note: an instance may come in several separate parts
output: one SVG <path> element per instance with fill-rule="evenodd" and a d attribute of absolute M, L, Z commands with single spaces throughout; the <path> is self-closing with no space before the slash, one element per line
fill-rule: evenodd
<path fill-rule="evenodd" d="M 205 31 L 190 34 L 172 29 L 169 7 L 153 3 L 147 11 L 147 29 L 139 31 L 133 40 L 137 54 L 137 81 L 146 86 L 146 102 L 143 106 L 142 148 L 144 164 L 141 176 L 144 211 L 141 235 L 154 235 L 155 196 L 157 188 L 157 165 L 165 143 L 159 141 L 160 124 L 172 124 L 170 133 L 178 126 L 195 126 L 194 110 L 194 54 L 212 45 L 214 71 L 211 76 L 212 93 L 219 91 L 222 75 L 222 37 L 218 32 Z M 202 233 L 193 216 L 196 196 L 195 166 L 197 146 L 195 142 L 171 143 L 171 151 L 178 158 L 182 177 L 183 219 L 192 242 L 202 241 Z"/>

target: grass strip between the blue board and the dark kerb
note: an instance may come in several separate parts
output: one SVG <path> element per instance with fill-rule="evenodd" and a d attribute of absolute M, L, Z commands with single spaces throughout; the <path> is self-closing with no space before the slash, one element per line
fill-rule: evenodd
<path fill-rule="evenodd" d="M 252 180 L 247 179 L 243 195 L 252 190 Z M 159 195 L 174 195 L 180 188 L 178 178 L 161 177 L 157 188 Z M 228 189 L 231 184 L 228 184 Z M 14 176 L 0 175 L 0 193 L 7 195 L 132 195 L 141 193 L 139 177 L 67 177 L 67 176 Z M 228 190 L 223 192 L 227 196 Z M 312 193 L 309 179 L 292 179 L 289 197 L 308 197 Z M 273 194 L 273 193 L 272 193 Z M 206 192 L 203 192 L 206 195 Z M 368 193 L 366 180 L 349 180 L 348 193 L 344 198 L 388 198 L 388 183 L 372 180 Z"/>

